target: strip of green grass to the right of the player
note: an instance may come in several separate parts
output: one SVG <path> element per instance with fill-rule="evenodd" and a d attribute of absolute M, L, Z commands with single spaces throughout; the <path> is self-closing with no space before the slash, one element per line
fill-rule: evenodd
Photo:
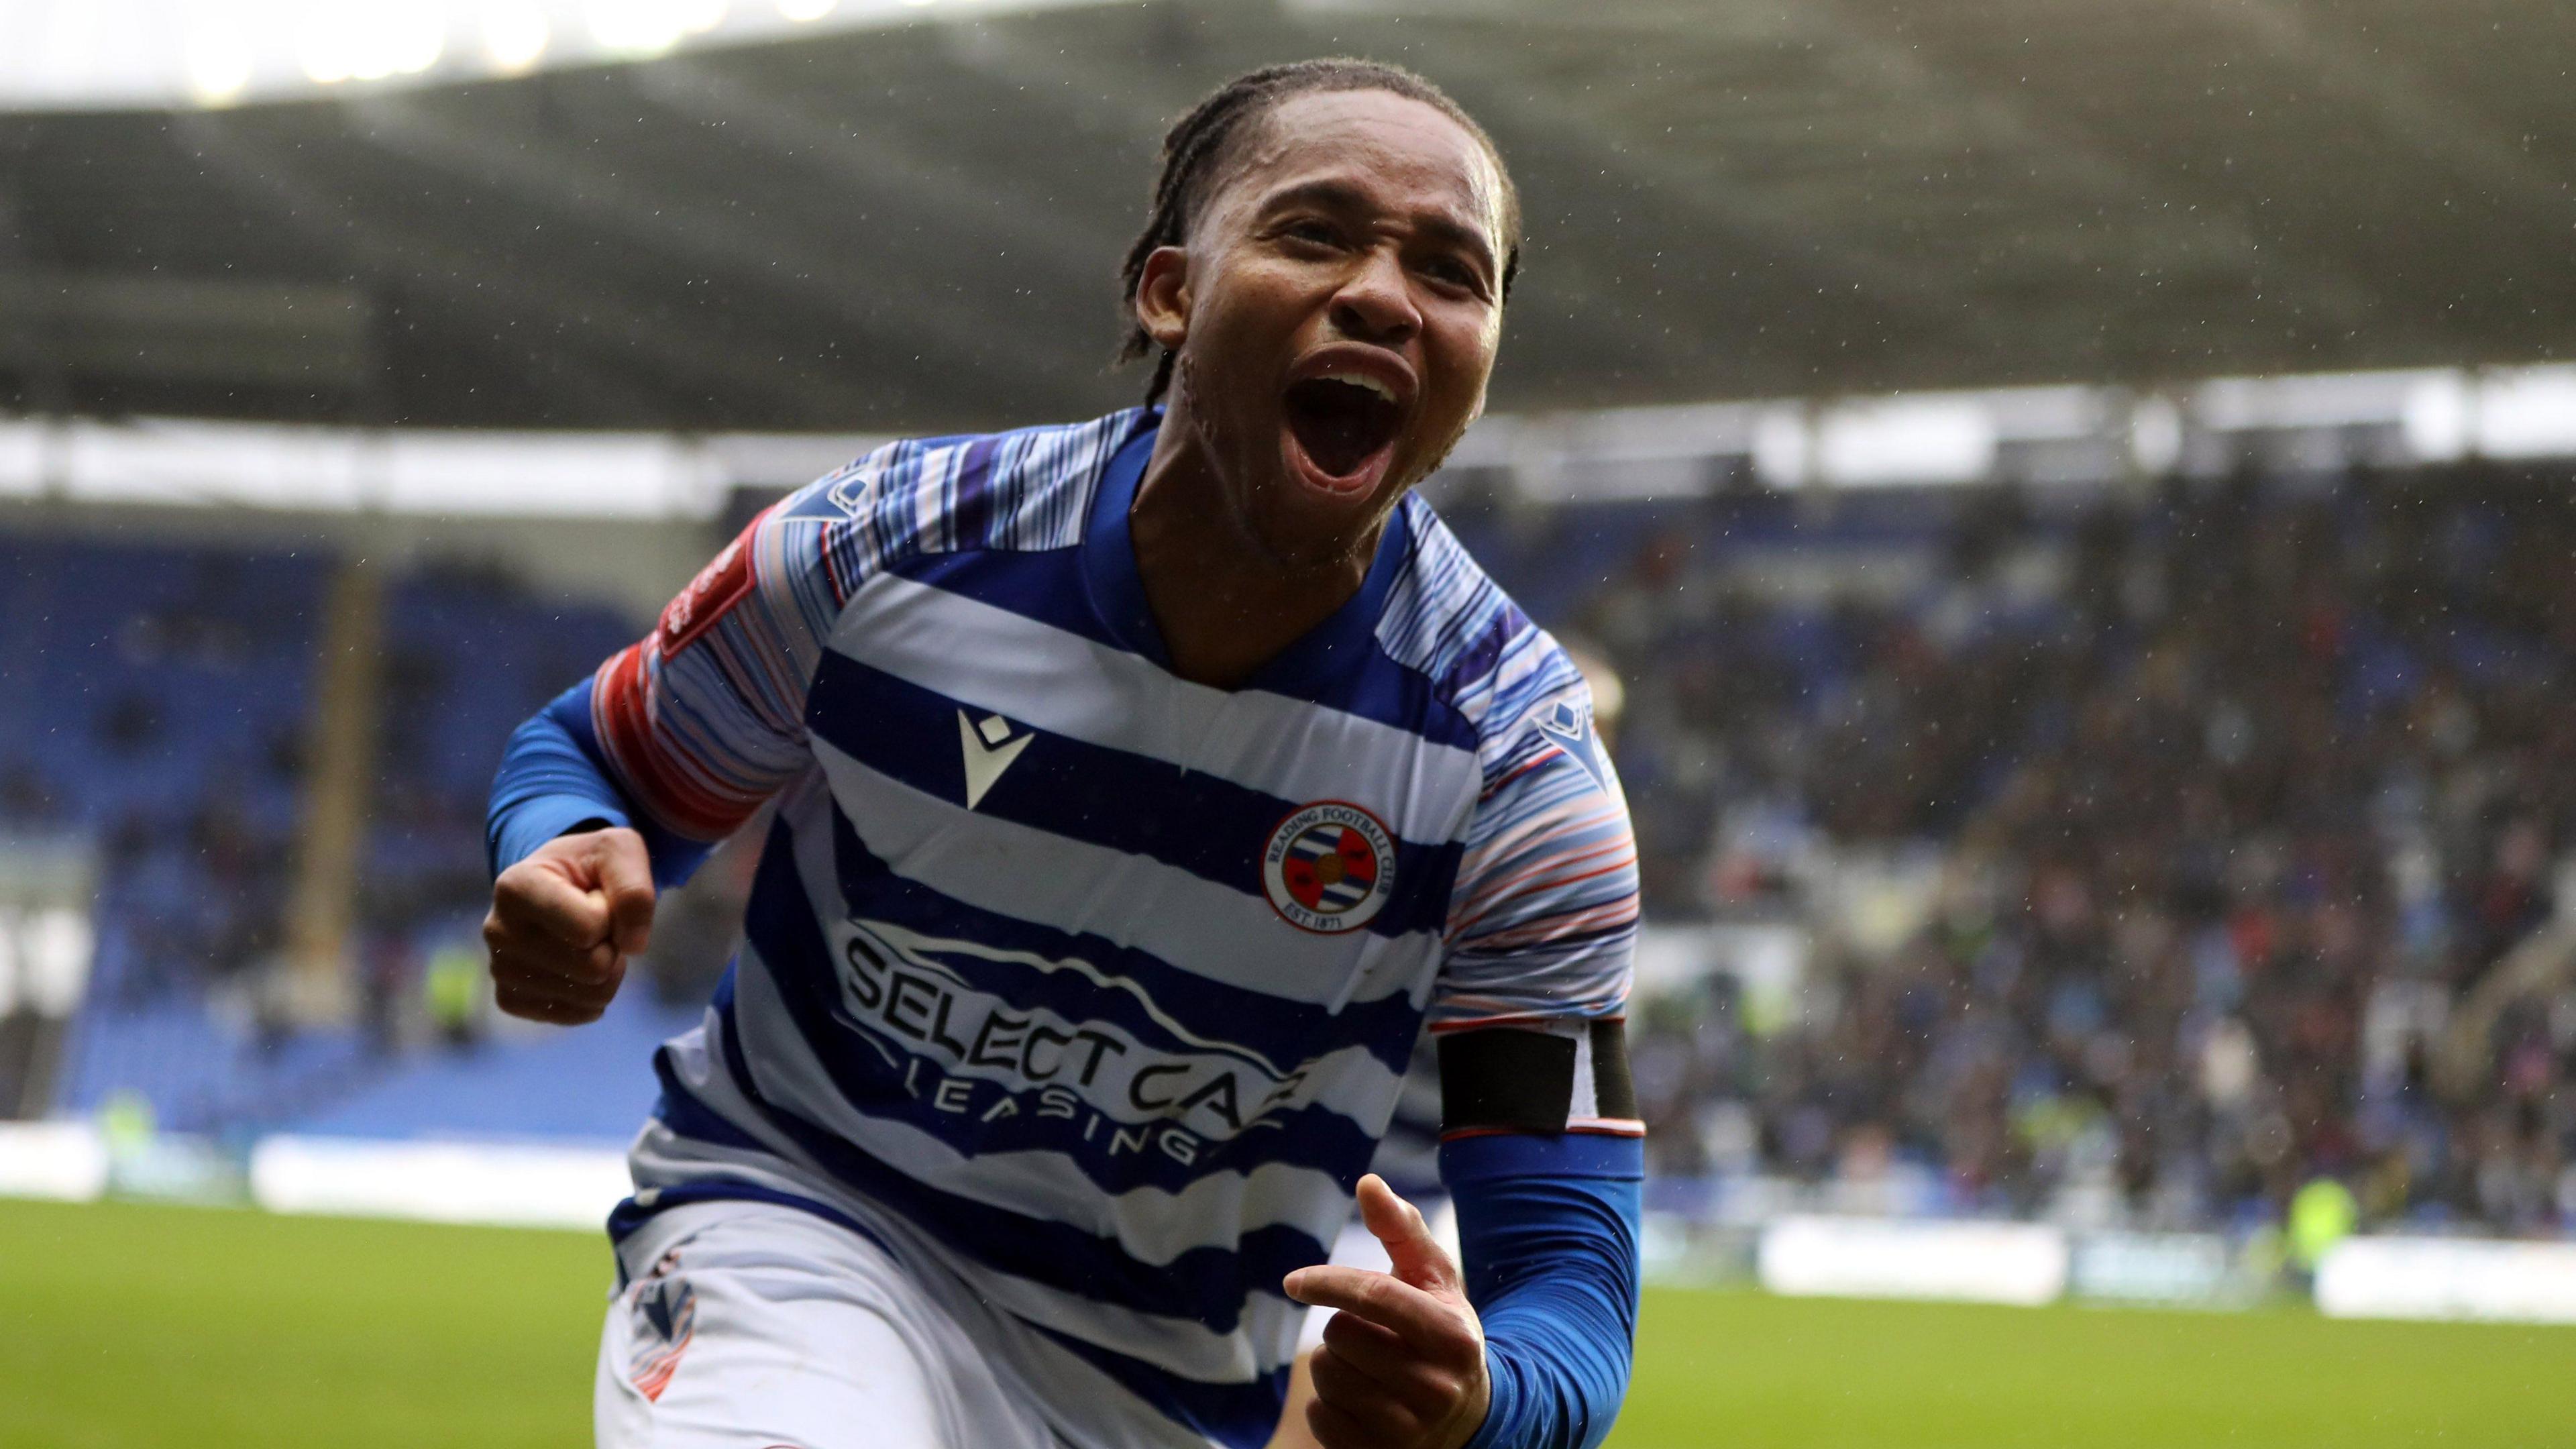
<path fill-rule="evenodd" d="M 1613 1449 L 2576 1444 L 2576 1328 L 1649 1292 Z"/>

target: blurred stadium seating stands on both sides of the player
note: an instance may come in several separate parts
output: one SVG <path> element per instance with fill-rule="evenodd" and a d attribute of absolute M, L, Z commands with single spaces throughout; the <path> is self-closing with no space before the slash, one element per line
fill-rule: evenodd
<path fill-rule="evenodd" d="M 2558 902 L 2563 485 L 2473 464 L 1564 505 L 1453 487 L 1479 557 L 1625 681 L 1649 918 L 1814 941 L 1788 1016 L 1726 972 L 1641 1000 L 1667 1183 L 2202 1227 L 2277 1220 L 2324 1173 L 2372 1222 L 2576 1220 L 2576 1114 L 2550 1093 L 2576 1013 L 2491 990 L 2494 1070 L 2445 1085 L 2424 1006 L 2496 982 Z M 5 807 L 77 815 L 118 864 L 62 1106 L 634 1127 L 721 902 L 670 910 L 693 962 L 603 1026 L 453 1049 L 422 1006 L 440 951 L 471 959 L 500 743 L 626 619 L 469 567 L 392 583 L 366 1011 L 291 1031 L 242 982 L 276 949 L 260 866 L 294 828 L 325 567 L 5 547 L 10 606 L 46 621 L 8 642 L 44 688 L 0 701 L 36 743 L 0 763 Z"/>

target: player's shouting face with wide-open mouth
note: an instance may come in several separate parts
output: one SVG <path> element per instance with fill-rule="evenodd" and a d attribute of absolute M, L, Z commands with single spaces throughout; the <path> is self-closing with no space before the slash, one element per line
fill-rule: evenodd
<path fill-rule="evenodd" d="M 1502 178 L 1386 90 L 1291 95 L 1208 201 L 1180 389 L 1239 523 L 1280 559 L 1370 536 L 1484 413 Z"/>

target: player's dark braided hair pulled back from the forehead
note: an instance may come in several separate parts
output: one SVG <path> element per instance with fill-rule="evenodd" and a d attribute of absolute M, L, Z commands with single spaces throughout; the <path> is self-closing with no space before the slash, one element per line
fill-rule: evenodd
<path fill-rule="evenodd" d="M 1157 351 L 1154 338 L 1136 322 L 1136 289 L 1144 284 L 1144 260 L 1157 248 L 1177 248 L 1188 240 L 1190 224 L 1198 222 L 1200 209 L 1206 209 L 1208 196 L 1216 191 L 1213 180 L 1221 173 L 1221 162 L 1244 137 L 1247 124 L 1267 116 L 1273 106 L 1291 95 L 1332 90 L 1386 90 L 1406 101 L 1422 101 L 1476 137 L 1476 144 L 1494 160 L 1494 173 L 1502 178 L 1502 294 L 1512 294 L 1512 276 L 1520 271 L 1520 193 L 1512 188 L 1512 173 L 1502 168 L 1494 137 L 1484 134 L 1484 126 L 1450 101 L 1445 90 L 1399 64 L 1355 57 L 1301 59 L 1236 75 L 1208 93 L 1206 101 L 1193 106 L 1162 137 L 1162 175 L 1154 180 L 1154 211 L 1146 217 L 1144 232 L 1136 235 L 1121 268 L 1128 302 L 1128 330 L 1118 345 L 1121 364 Z M 1164 392 L 1172 389 L 1172 351 L 1162 348 L 1162 356 L 1154 361 L 1154 382 L 1144 394 L 1149 405 L 1162 402 Z"/>

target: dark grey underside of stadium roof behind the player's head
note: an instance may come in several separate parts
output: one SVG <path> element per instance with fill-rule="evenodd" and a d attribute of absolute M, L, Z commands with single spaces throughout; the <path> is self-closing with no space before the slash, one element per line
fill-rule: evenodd
<path fill-rule="evenodd" d="M 2576 353 L 2561 0 L 1151 0 L 0 116 L 0 407 L 1113 405 L 1162 124 L 1319 52 L 1425 70 L 1510 155 L 1499 407 Z"/>

